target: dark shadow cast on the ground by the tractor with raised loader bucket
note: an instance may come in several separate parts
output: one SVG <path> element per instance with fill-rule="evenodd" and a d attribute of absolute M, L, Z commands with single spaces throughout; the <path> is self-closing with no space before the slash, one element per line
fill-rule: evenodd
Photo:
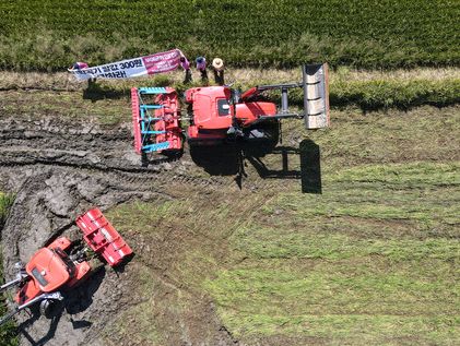
<path fill-rule="evenodd" d="M 279 169 L 269 168 L 266 159 L 268 154 L 281 156 Z M 296 155 L 299 157 L 300 169 L 291 169 L 290 160 Z M 247 143 L 196 146 L 190 147 L 190 156 L 196 165 L 211 176 L 236 175 L 235 181 L 239 188 L 247 176 L 245 167 L 250 163 L 262 179 L 299 179 L 303 193 L 322 193 L 320 147 L 311 140 L 302 141 L 298 148 Z"/>

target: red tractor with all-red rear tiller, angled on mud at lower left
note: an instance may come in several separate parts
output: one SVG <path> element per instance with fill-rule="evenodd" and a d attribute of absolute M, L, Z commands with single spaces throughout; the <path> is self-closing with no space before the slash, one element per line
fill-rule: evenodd
<path fill-rule="evenodd" d="M 61 291 L 80 285 L 96 269 L 92 267 L 91 256 L 102 256 L 110 266 L 116 266 L 132 253 L 98 208 L 79 216 L 76 225 L 85 244 L 57 238 L 35 252 L 25 266 L 20 265 L 15 279 L 1 286 L 0 291 L 13 286 L 19 286 L 19 291 L 14 297 L 16 307 L 0 319 L 0 325 L 37 302 L 40 302 L 40 312 L 48 315 L 52 305 L 63 299 Z"/>

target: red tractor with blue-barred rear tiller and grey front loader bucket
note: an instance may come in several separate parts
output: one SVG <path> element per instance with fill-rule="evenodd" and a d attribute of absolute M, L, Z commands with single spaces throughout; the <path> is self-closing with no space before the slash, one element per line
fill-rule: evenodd
<path fill-rule="evenodd" d="M 329 126 L 328 64 L 305 64 L 299 83 L 255 86 L 245 93 L 229 86 L 193 87 L 185 92 L 190 124 L 182 131 L 178 95 L 170 87 L 131 90 L 134 147 L 138 154 L 158 152 L 170 155 L 182 151 L 182 132 L 190 145 L 215 145 L 237 138 L 273 140 L 278 143 L 284 118 L 303 118 L 307 129 Z M 304 111 L 291 112 L 287 91 L 302 87 Z M 281 108 L 262 100 L 261 93 L 281 90 Z M 149 97 L 153 103 L 149 103 Z"/>

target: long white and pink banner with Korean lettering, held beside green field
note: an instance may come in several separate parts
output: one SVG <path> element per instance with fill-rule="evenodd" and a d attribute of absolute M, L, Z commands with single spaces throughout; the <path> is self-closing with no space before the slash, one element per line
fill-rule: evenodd
<path fill-rule="evenodd" d="M 86 81 L 89 79 L 130 79 L 176 70 L 180 64 L 180 57 L 184 57 L 182 52 L 179 49 L 173 49 L 94 68 L 73 68 L 68 71 L 73 73 L 79 81 Z"/>

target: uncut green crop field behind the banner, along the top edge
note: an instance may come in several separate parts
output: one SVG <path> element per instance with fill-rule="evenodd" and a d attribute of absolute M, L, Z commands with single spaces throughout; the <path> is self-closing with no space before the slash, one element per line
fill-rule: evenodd
<path fill-rule="evenodd" d="M 0 69 L 62 70 L 169 48 L 229 65 L 459 65 L 458 0 L 0 2 Z"/>

